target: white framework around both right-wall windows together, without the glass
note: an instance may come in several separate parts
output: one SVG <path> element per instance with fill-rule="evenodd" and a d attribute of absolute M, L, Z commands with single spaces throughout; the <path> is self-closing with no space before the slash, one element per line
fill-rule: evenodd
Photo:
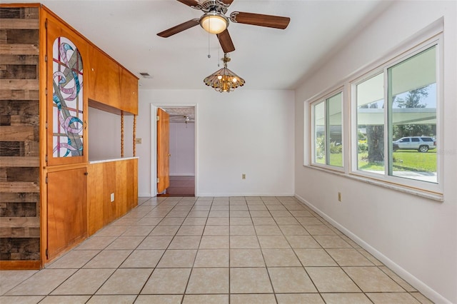
<path fill-rule="evenodd" d="M 344 178 L 351 178 L 355 181 L 363 183 L 370 183 L 375 186 L 383 188 L 389 188 L 393 191 L 399 191 L 408 193 L 414 196 L 421 196 L 428 198 L 433 201 L 443 201 L 443 176 L 444 176 L 444 160 L 443 160 L 443 132 L 444 123 L 443 120 L 443 92 L 444 92 L 444 51 L 443 43 L 443 17 L 436 19 L 425 28 L 413 34 L 403 43 L 393 47 L 387 51 L 383 56 L 374 59 L 373 61 L 363 64 L 360 68 L 355 69 L 352 73 L 347 76 L 343 76 L 340 79 L 336 79 L 336 86 L 328 87 L 320 93 L 306 98 L 303 101 L 304 106 L 304 120 L 308 118 L 308 123 L 304 123 L 304 141 L 303 141 L 303 166 L 320 170 L 326 173 L 335 174 Z M 388 176 L 386 174 L 371 175 L 368 172 L 358 171 L 354 169 L 358 166 L 357 164 L 357 153 L 358 153 L 358 137 L 357 137 L 357 121 L 356 117 L 357 107 L 354 107 L 353 96 L 355 96 L 353 83 L 361 82 L 363 79 L 376 76 L 379 73 L 387 73 L 387 67 L 398 64 L 421 51 L 428 49 L 428 47 L 436 45 L 436 171 L 437 171 L 437 183 L 430 183 L 427 181 L 415 181 L 408 180 L 407 178 L 401 178 L 398 176 Z M 386 68 L 386 69 L 384 69 Z M 384 77 L 384 87 L 387 85 L 387 77 Z M 328 98 L 336 91 L 342 91 L 342 138 L 343 138 L 343 168 L 322 165 L 319 163 L 313 163 L 314 153 L 314 135 L 313 135 L 313 111 L 311 104 L 316 101 Z M 383 98 L 387 101 L 387 90 L 383 90 Z M 385 111 L 384 115 L 387 116 Z M 387 117 L 384 118 L 385 122 L 388 122 Z M 388 127 L 384 130 L 385 138 L 388 138 Z M 355 136 L 354 136 L 355 135 Z M 388 139 L 385 140 L 389 143 Z M 386 147 L 384 145 L 384 153 L 388 159 L 390 157 L 386 154 Z M 390 146 L 390 145 L 389 145 Z M 355 152 L 355 153 L 354 153 Z M 354 156 L 355 154 L 355 156 Z M 354 158 L 355 157 L 355 158 Z M 389 163 L 386 163 L 385 171 L 388 170 Z"/>

